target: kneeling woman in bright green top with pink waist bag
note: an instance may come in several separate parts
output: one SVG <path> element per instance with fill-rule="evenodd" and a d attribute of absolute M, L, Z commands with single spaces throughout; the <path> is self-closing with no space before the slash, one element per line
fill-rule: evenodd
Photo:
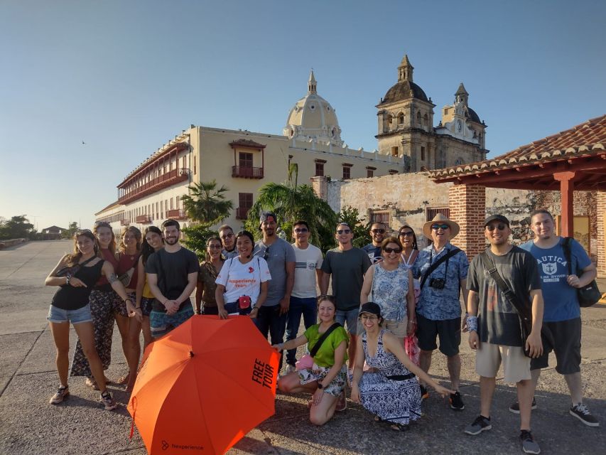
<path fill-rule="evenodd" d="M 308 328 L 303 335 L 294 340 L 275 345 L 279 350 L 294 349 L 308 343 L 313 355 L 313 365 L 288 373 L 278 380 L 278 389 L 282 392 L 313 394 L 309 420 L 315 425 L 323 425 L 335 410 L 345 410 L 345 383 L 347 381 L 347 342 L 350 336 L 338 323 L 335 328 L 335 299 L 332 296 L 318 298 L 319 324 Z M 331 330 L 332 328 L 332 330 Z M 327 333 L 319 348 L 314 349 L 320 338 Z M 302 359 L 303 360 L 303 359 Z M 337 409 L 337 405 L 339 406 Z"/>

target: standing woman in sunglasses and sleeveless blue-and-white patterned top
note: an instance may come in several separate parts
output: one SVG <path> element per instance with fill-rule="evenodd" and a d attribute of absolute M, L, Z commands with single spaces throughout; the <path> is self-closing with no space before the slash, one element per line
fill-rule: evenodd
<path fill-rule="evenodd" d="M 364 275 L 360 303 L 374 301 L 381 307 L 385 328 L 404 341 L 413 333 L 415 319 L 412 272 L 400 262 L 402 244 L 396 237 L 381 243 L 383 260 L 369 267 Z M 362 328 L 359 328 L 362 332 Z"/>

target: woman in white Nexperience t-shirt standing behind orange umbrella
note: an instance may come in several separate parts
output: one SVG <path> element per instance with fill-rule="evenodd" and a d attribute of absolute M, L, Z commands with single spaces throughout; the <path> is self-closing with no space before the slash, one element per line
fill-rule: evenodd
<path fill-rule="evenodd" d="M 271 279 L 267 262 L 253 257 L 254 237 L 247 230 L 236 234 L 237 257 L 225 261 L 217 275 L 215 300 L 221 319 L 229 314 L 249 314 L 256 318 L 267 298 L 267 282 Z"/>

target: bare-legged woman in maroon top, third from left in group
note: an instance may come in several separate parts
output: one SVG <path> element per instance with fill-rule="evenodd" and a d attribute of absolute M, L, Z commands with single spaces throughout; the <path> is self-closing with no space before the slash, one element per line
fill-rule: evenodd
<path fill-rule="evenodd" d="M 134 226 L 123 228 L 120 235 L 120 245 L 118 247 L 118 267 L 117 275 L 129 294 L 129 299 L 136 301 L 137 282 L 139 282 L 139 256 L 141 256 L 141 231 Z M 135 313 L 129 314 L 126 305 L 120 299 L 114 299 L 114 318 L 120 337 L 122 338 L 122 351 L 126 364 L 129 366 L 129 373 L 122 376 L 117 383 L 126 384 L 129 389 L 129 378 L 131 374 L 136 374 L 139 365 L 139 356 L 141 355 L 141 345 L 139 344 L 139 333 L 141 333 L 141 321 L 143 314 L 141 309 L 135 307 Z M 136 343 L 132 341 L 136 338 Z M 132 383 L 134 385 L 134 382 Z"/>

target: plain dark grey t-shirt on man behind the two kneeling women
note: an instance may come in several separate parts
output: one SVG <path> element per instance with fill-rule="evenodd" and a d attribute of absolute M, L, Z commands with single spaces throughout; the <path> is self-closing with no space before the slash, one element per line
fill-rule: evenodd
<path fill-rule="evenodd" d="M 337 310 L 349 311 L 359 307 L 364 274 L 370 267 L 370 258 L 364 250 L 333 248 L 326 253 L 322 272 L 332 274 L 332 294 L 337 300 Z"/>

